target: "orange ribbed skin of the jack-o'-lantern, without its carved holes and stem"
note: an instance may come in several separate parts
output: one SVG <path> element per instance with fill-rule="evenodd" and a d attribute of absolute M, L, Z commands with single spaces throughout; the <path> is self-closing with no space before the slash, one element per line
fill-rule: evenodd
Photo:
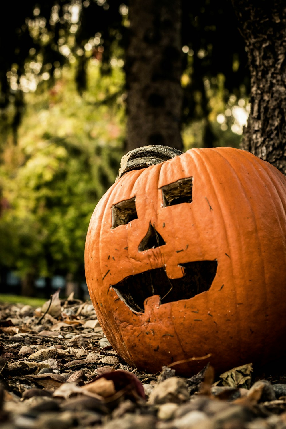
<path fill-rule="evenodd" d="M 162 207 L 161 187 L 193 177 L 193 202 Z M 111 228 L 111 207 L 135 196 L 138 218 Z M 208 362 L 217 372 L 286 354 L 286 179 L 276 168 L 234 148 L 191 149 L 121 177 L 96 206 L 85 246 L 85 271 L 99 323 L 131 366 L 163 365 L 191 375 Z M 148 226 L 166 244 L 138 251 Z M 217 260 L 208 291 L 136 314 L 111 285 L 145 270 Z M 134 284 L 134 288 L 136 284 Z"/>

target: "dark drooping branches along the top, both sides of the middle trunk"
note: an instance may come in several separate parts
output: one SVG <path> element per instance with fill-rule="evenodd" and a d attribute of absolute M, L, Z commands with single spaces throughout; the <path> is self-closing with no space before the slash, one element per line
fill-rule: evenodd
<path fill-rule="evenodd" d="M 141 4 L 144 8 L 143 1 Z M 162 4 L 154 2 L 154 19 L 164 15 Z M 248 93 L 250 79 L 244 41 L 230 1 L 177 1 L 176 5 L 182 12 L 182 62 L 188 76 L 183 85 L 182 121 L 190 124 L 210 113 L 206 79 L 215 87 L 218 76 L 225 76 L 224 103 L 231 94 L 240 98 Z M 132 37 L 128 6 L 129 0 L 26 0 L 17 8 L 8 2 L 7 16 L 12 24 L 8 30 L 0 28 L 1 131 L 20 122 L 23 103 L 19 93 L 35 91 L 37 85 L 53 85 L 63 66 L 77 65 L 79 93 L 86 88 L 90 60 L 101 62 L 103 75 L 110 73 L 114 51 L 122 61 Z M 9 103 L 14 115 L 11 107 L 10 112 L 6 110 Z"/>

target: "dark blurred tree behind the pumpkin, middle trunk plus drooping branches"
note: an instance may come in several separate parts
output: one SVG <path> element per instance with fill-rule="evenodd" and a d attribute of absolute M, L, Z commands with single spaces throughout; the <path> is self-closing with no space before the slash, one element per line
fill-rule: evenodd
<path fill-rule="evenodd" d="M 222 74 L 225 102 L 248 92 L 247 57 L 228 0 L 27 0 L 7 7 L 13 25 L 0 28 L 0 107 L 14 131 L 24 109 L 22 91 L 51 82 L 64 63 L 75 62 L 81 92 L 90 58 L 108 73 L 115 51 L 117 59 L 126 53 L 127 149 L 154 141 L 181 147 L 181 122 L 202 118 L 204 145 L 212 146 L 217 137 L 209 87 L 215 90 Z"/>

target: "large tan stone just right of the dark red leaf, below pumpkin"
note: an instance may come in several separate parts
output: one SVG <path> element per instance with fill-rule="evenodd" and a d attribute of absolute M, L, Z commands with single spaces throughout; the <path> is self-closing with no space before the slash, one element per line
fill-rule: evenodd
<path fill-rule="evenodd" d="M 148 402 L 164 404 L 165 402 L 186 402 L 190 398 L 188 386 L 182 378 L 170 377 L 157 384 L 152 390 Z"/>

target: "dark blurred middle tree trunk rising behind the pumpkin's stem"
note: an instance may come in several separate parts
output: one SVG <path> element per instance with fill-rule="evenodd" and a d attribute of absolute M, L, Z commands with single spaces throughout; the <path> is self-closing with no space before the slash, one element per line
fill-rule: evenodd
<path fill-rule="evenodd" d="M 182 149 L 181 1 L 132 0 L 129 19 L 127 150 Z"/>

